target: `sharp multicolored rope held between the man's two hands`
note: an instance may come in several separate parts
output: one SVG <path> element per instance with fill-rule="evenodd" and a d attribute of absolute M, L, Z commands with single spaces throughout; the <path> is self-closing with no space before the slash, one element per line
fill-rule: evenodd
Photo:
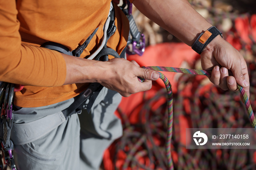
<path fill-rule="evenodd" d="M 161 78 L 165 84 L 168 100 L 167 100 L 167 111 L 168 111 L 168 130 L 167 130 L 167 142 L 166 142 L 166 155 L 168 159 L 168 167 L 170 170 L 173 170 L 173 162 L 171 156 L 171 139 L 172 139 L 172 130 L 173 130 L 173 96 L 172 96 L 172 87 L 170 85 L 169 80 L 163 75 L 161 72 L 175 72 L 175 73 L 185 73 L 185 74 L 195 74 L 195 75 L 204 75 L 204 76 L 211 76 L 211 71 L 206 70 L 194 70 L 194 69 L 183 69 L 183 68 L 176 68 L 176 67 L 162 67 L 162 66 L 148 66 L 143 67 L 145 69 L 155 70 L 159 73 L 159 78 Z M 143 82 L 143 78 L 138 78 L 140 82 Z M 237 84 L 237 88 L 242 96 L 242 100 L 244 101 L 249 119 L 251 121 L 252 127 L 256 132 L 256 120 L 255 116 L 252 111 L 251 104 L 249 102 L 249 98 L 244 90 L 240 85 Z"/>

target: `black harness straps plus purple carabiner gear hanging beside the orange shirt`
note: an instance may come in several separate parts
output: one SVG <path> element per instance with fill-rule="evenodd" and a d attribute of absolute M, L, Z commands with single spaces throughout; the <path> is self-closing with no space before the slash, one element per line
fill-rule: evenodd
<path fill-rule="evenodd" d="M 124 9 L 126 6 L 128 6 L 128 8 Z M 138 27 L 136 26 L 135 21 L 132 17 L 132 3 L 130 3 L 129 1 L 124 1 L 123 6 L 120 8 L 125 13 L 125 15 L 127 15 L 127 18 L 129 19 L 129 23 L 130 23 L 130 35 L 129 35 L 129 40 L 126 48 L 129 50 L 128 45 L 132 43 L 133 52 L 129 54 L 136 53 L 136 54 L 142 55 L 145 49 L 145 37 L 143 34 L 140 34 L 140 32 L 138 31 Z M 104 34 L 103 34 L 102 43 L 98 47 L 98 49 L 95 50 L 95 52 L 91 54 L 87 59 L 94 59 L 97 61 L 108 61 L 108 55 L 112 55 L 115 58 L 120 58 L 120 57 L 125 58 L 122 56 L 122 55 L 125 56 L 125 53 L 122 52 L 121 55 L 119 56 L 119 54 L 115 50 L 107 47 L 108 39 L 110 38 L 110 36 L 114 34 L 114 32 L 117 29 L 114 23 L 115 23 L 115 14 L 114 14 L 113 5 L 112 3 L 110 3 L 109 16 L 104 25 Z M 87 45 L 90 43 L 91 39 L 93 38 L 93 36 L 96 34 L 97 31 L 98 31 L 98 28 L 96 28 L 93 31 L 93 33 L 86 39 L 86 41 L 82 45 L 79 45 L 73 51 L 69 51 L 67 47 L 55 42 L 46 42 L 43 45 L 41 45 L 41 47 L 45 47 L 51 50 L 56 50 L 56 51 L 59 51 L 60 53 L 64 53 L 67 55 L 80 57 L 80 55 L 83 53 L 83 50 L 86 49 Z M 130 37 L 132 39 L 130 39 Z M 125 49 L 123 51 L 125 51 Z M 90 109 L 102 88 L 103 86 L 99 83 L 91 83 L 87 88 L 87 90 L 85 90 L 83 93 L 75 97 L 75 102 L 70 107 L 62 111 L 64 116 L 67 118 L 68 116 L 74 113 L 78 113 L 81 111 L 81 109 L 85 109 L 85 108 L 87 109 L 88 112 L 90 112 Z M 89 103 L 86 103 L 87 100 L 89 100 Z"/>

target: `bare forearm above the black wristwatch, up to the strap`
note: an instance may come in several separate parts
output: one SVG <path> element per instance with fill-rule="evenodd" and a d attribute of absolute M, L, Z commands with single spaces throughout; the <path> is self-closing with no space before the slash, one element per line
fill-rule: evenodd
<path fill-rule="evenodd" d="M 201 32 L 212 26 L 187 0 L 134 0 L 133 4 L 149 19 L 189 46 Z"/>

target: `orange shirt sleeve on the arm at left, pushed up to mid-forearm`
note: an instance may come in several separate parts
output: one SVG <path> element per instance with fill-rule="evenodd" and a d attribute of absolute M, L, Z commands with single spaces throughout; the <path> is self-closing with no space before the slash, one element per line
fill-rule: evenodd
<path fill-rule="evenodd" d="M 33 86 L 61 86 L 66 78 L 63 56 L 23 44 L 15 0 L 0 1 L 0 81 Z"/>

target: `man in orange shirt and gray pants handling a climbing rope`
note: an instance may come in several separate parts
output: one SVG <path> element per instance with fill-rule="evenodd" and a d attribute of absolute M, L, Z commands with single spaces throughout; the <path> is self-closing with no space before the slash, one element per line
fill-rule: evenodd
<path fill-rule="evenodd" d="M 189 46 L 211 27 L 187 0 L 131 2 Z M 113 7 L 117 30 L 107 46 L 121 54 L 128 38 L 128 20 L 115 4 Z M 14 159 L 20 170 L 98 169 L 104 149 L 122 133 L 120 120 L 113 115 L 120 102 L 119 94 L 128 97 L 148 90 L 151 81 L 159 77 L 135 61 L 86 59 L 101 45 L 109 10 L 110 0 L 0 2 L 0 81 L 25 85 L 15 93 L 11 133 Z M 96 28 L 80 57 L 40 47 L 45 42 L 56 42 L 72 51 Z M 249 97 L 248 71 L 241 54 L 219 35 L 202 50 L 203 69 L 212 70 L 210 80 L 233 91 L 237 82 Z M 137 77 L 146 81 L 139 82 Z M 105 88 L 90 113 L 84 110 L 81 114 L 80 135 L 78 114 L 63 119 L 63 111 L 75 103 L 78 94 L 85 94 L 91 82 Z M 53 126 L 55 119 L 60 123 Z"/>

